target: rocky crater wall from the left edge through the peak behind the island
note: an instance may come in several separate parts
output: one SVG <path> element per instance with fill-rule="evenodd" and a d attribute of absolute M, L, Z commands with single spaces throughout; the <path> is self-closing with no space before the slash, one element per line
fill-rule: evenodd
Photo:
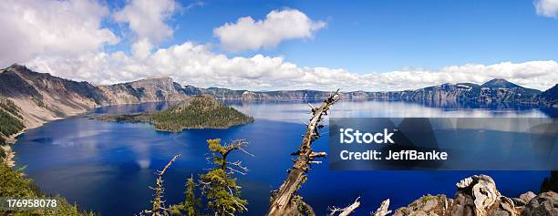
<path fill-rule="evenodd" d="M 0 97 L 9 98 L 21 109 L 27 129 L 100 106 L 189 98 L 169 77 L 97 87 L 37 73 L 20 65 L 0 70 Z"/>

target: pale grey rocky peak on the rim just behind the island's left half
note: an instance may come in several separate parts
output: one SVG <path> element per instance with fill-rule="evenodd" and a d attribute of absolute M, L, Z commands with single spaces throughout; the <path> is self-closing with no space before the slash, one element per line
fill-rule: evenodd
<path fill-rule="evenodd" d="M 99 86 L 110 105 L 181 101 L 189 96 L 170 77 L 150 78 L 110 86 Z"/>

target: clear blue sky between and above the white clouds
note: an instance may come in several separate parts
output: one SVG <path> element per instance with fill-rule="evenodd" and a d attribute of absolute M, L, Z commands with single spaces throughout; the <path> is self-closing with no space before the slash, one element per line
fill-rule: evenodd
<path fill-rule="evenodd" d="M 311 39 L 287 40 L 274 49 L 219 48 L 213 28 L 242 16 L 264 19 L 280 8 L 298 9 L 326 27 Z M 174 36 L 162 47 L 191 40 L 212 43 L 229 57 L 261 53 L 356 73 L 558 58 L 558 20 L 537 15 L 532 1 L 207 1 L 169 23 Z"/>

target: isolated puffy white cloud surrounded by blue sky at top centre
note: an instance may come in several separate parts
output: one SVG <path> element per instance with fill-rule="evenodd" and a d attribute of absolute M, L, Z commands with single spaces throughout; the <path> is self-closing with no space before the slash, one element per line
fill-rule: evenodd
<path fill-rule="evenodd" d="M 284 9 L 270 12 L 264 20 L 241 17 L 236 23 L 213 29 L 213 34 L 224 49 L 243 51 L 273 48 L 288 39 L 310 38 L 324 26 L 325 22 L 313 21 L 299 10 Z"/>

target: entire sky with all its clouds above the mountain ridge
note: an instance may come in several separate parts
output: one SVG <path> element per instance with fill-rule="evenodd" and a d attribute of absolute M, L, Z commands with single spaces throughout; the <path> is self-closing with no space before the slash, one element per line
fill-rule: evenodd
<path fill-rule="evenodd" d="M 0 66 L 248 90 L 558 83 L 558 0 L 6 0 Z"/>

